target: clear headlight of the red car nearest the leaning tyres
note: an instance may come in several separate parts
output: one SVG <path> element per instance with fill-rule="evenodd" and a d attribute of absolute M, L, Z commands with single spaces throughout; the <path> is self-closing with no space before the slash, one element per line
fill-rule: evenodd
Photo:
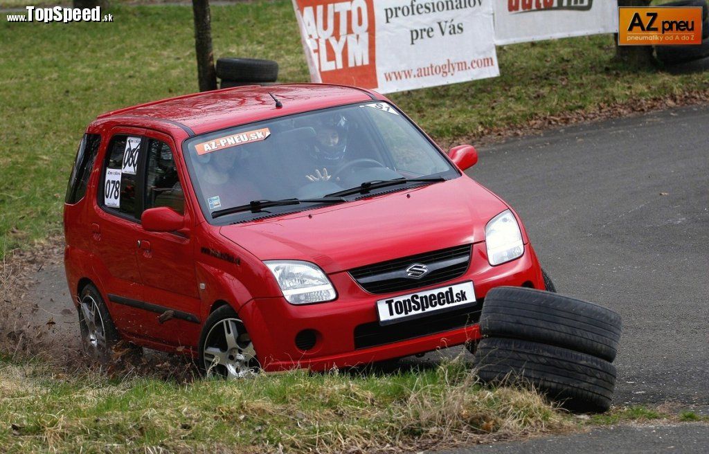
<path fill-rule="evenodd" d="M 488 250 L 488 261 L 491 265 L 499 265 L 517 259 L 524 254 L 520 226 L 515 215 L 505 210 L 493 217 L 485 226 L 485 244 Z"/>

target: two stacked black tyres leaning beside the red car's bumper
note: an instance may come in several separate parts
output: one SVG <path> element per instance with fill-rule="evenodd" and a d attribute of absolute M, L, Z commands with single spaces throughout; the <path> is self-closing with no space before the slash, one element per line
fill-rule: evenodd
<path fill-rule="evenodd" d="M 579 412 L 605 412 L 615 388 L 611 364 L 620 315 L 590 302 L 521 287 L 490 290 L 475 351 L 483 382 L 531 384 Z"/>

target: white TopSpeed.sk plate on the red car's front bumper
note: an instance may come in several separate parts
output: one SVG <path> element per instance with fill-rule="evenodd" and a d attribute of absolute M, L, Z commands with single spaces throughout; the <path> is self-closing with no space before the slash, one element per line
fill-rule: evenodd
<path fill-rule="evenodd" d="M 470 281 L 447 287 L 423 290 L 376 302 L 379 324 L 403 322 L 475 304 L 475 289 Z"/>

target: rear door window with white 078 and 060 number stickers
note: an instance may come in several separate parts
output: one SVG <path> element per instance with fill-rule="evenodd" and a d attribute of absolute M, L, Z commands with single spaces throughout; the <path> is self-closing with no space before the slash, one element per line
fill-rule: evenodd
<path fill-rule="evenodd" d="M 138 180 L 135 174 L 138 172 L 142 141 L 142 137 L 118 135 L 108 144 L 103 203 L 109 210 L 116 210 L 130 217 L 136 215 Z"/>

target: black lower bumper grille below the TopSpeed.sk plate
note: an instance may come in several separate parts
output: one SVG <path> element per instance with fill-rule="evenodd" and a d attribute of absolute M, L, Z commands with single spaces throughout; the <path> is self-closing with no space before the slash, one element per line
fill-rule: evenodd
<path fill-rule="evenodd" d="M 354 348 L 368 348 L 392 342 L 442 333 L 480 321 L 482 298 L 475 305 L 451 310 L 430 317 L 381 326 L 379 322 L 365 323 L 354 328 Z"/>

